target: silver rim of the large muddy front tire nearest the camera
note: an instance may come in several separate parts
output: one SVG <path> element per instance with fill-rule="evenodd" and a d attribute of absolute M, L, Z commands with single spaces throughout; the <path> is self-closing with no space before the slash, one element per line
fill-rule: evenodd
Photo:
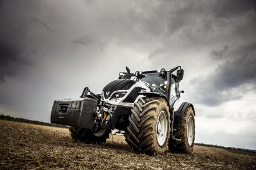
<path fill-rule="evenodd" d="M 166 143 L 166 137 L 168 133 L 168 122 L 166 112 L 160 112 L 158 121 L 156 122 L 156 139 L 158 145 L 163 146 Z"/>

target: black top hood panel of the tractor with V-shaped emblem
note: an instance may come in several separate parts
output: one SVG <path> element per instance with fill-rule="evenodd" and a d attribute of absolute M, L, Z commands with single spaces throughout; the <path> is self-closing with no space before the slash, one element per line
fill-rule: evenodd
<path fill-rule="evenodd" d="M 105 99 L 108 99 L 110 95 L 112 95 L 112 93 L 117 90 L 129 90 L 129 88 L 131 88 L 131 86 L 133 86 L 135 83 L 136 82 L 131 79 L 114 80 L 103 88 L 102 91 L 104 92 L 104 97 Z"/>

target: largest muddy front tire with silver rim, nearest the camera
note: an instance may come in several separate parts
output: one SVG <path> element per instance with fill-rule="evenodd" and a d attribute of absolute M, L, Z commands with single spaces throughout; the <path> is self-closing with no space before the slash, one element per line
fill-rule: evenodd
<path fill-rule="evenodd" d="M 135 151 L 148 155 L 164 154 L 170 137 L 170 112 L 167 101 L 143 97 L 134 104 L 125 134 Z"/>

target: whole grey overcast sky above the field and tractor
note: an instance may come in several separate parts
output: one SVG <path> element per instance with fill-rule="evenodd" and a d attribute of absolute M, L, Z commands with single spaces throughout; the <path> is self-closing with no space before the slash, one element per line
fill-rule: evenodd
<path fill-rule="evenodd" d="M 0 1 L 0 114 L 181 65 L 196 142 L 256 150 L 256 1 Z"/>

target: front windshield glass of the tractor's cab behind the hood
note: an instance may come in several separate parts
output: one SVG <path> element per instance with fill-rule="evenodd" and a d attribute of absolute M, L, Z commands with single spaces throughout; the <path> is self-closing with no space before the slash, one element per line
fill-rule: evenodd
<path fill-rule="evenodd" d="M 162 76 L 159 76 L 159 73 L 147 73 L 143 74 L 144 77 L 139 80 L 139 82 L 143 82 L 147 87 L 150 88 L 152 92 L 160 92 L 163 93 L 163 88 L 161 90 L 159 87 L 163 86 L 166 82 L 166 79 L 163 79 Z"/>

